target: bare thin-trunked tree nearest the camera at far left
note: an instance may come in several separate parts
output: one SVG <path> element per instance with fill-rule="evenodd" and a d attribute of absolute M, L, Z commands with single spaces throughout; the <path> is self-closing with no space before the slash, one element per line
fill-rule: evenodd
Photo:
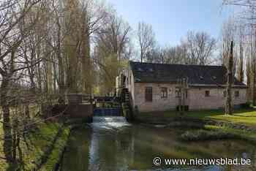
<path fill-rule="evenodd" d="M 28 20 L 26 16 L 34 9 L 45 7 L 44 1 L 4 1 L 1 2 L 0 23 L 0 75 L 1 75 L 1 107 L 3 112 L 4 129 L 4 153 L 7 161 L 12 161 L 12 126 L 10 121 L 9 93 L 10 83 L 18 80 L 23 70 L 34 66 L 40 60 L 34 59 L 31 64 L 26 65 L 26 58 L 22 53 L 20 45 L 24 39 L 31 34 L 30 30 L 39 20 L 39 11 L 34 13 L 34 19 L 29 24 L 23 23 Z M 36 42 L 34 42 L 36 43 Z"/>

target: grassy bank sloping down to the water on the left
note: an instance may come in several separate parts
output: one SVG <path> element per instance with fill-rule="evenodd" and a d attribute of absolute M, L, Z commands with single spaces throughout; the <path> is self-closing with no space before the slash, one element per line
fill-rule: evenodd
<path fill-rule="evenodd" d="M 18 164 L 8 164 L 4 159 L 0 159 L 0 170 L 53 170 L 67 143 L 68 135 L 69 127 L 63 126 L 62 123 L 39 123 L 25 138 L 21 138 L 17 152 Z M 0 156 L 4 157 L 3 142 L 0 143 Z"/>

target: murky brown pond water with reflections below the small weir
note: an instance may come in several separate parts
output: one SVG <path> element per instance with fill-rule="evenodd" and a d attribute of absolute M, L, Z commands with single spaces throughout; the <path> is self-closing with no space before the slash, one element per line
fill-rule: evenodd
<path fill-rule="evenodd" d="M 100 121 L 102 119 L 102 121 Z M 241 158 L 256 161 L 255 146 L 238 140 L 182 142 L 185 130 L 130 125 L 123 118 L 94 118 L 91 126 L 71 134 L 62 170 L 255 170 L 252 167 L 154 167 L 152 159 Z"/>

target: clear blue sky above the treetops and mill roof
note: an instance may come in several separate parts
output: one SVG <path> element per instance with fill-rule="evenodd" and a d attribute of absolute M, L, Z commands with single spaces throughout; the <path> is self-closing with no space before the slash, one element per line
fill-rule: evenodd
<path fill-rule="evenodd" d="M 187 31 L 206 31 L 216 39 L 232 14 L 222 0 L 106 0 L 135 30 L 150 23 L 160 45 L 177 45 Z"/>

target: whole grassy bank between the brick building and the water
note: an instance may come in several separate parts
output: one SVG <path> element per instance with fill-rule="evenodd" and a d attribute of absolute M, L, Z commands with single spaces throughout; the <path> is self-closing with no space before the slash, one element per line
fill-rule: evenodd
<path fill-rule="evenodd" d="M 255 108 L 235 110 L 233 115 L 225 115 L 223 110 L 188 111 L 182 117 L 177 111 L 165 111 L 139 113 L 136 118 L 146 123 L 165 123 L 173 128 L 193 128 L 181 135 L 181 139 L 187 141 L 234 138 L 256 142 Z"/>

